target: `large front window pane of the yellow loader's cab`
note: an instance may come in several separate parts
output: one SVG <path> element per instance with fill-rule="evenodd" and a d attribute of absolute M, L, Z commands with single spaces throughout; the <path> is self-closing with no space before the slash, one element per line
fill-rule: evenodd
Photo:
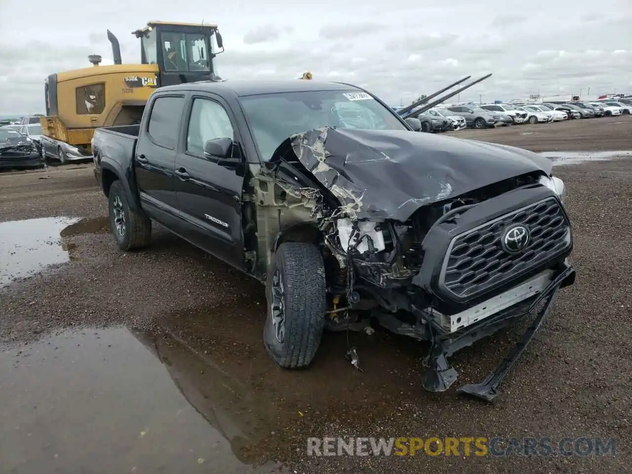
<path fill-rule="evenodd" d="M 200 33 L 162 32 L 166 71 L 210 71 L 209 41 Z"/>

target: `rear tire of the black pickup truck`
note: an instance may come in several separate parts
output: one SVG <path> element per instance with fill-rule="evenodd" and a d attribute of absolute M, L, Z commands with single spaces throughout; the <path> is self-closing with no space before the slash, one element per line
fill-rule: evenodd
<path fill-rule="evenodd" d="M 119 198 L 125 216 L 125 235 L 121 235 L 116 229 L 114 201 Z M 107 197 L 109 209 L 110 230 L 121 250 L 133 250 L 149 245 L 152 238 L 152 221 L 144 214 L 138 214 L 130 209 L 121 181 L 114 181 L 110 186 Z"/>

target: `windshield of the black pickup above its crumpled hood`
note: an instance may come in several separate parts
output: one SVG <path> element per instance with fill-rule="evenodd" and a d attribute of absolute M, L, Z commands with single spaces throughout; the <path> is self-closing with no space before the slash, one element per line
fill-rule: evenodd
<path fill-rule="evenodd" d="M 264 161 L 290 135 L 314 128 L 408 130 L 395 112 L 358 90 L 282 92 L 239 101 Z"/>

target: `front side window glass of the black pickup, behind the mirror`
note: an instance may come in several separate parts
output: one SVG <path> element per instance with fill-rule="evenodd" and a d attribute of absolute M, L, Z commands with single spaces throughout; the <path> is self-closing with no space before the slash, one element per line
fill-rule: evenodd
<path fill-rule="evenodd" d="M 186 133 L 186 151 L 204 155 L 204 144 L 214 138 L 234 139 L 233 125 L 228 113 L 213 100 L 193 100 Z"/>

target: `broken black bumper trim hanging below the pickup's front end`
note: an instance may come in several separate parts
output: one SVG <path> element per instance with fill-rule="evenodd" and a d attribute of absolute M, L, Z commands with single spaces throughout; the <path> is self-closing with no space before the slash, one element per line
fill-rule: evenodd
<path fill-rule="evenodd" d="M 507 375 L 514 363 L 525 351 L 526 346 L 531 342 L 535 333 L 542 326 L 544 318 L 550 311 L 560 288 L 573 284 L 575 270 L 568 264 L 564 264 L 562 269 L 551 280 L 550 284 L 531 300 L 523 305 L 524 311 L 516 311 L 515 308 L 509 312 L 500 312 L 489 319 L 482 320 L 480 324 L 471 326 L 467 332 L 459 335 L 449 342 L 440 339 L 435 330 L 430 327 L 433 336 L 432 346 L 428 354 L 428 369 L 423 379 L 423 387 L 431 392 L 446 391 L 456 380 L 458 374 L 456 370 L 447 362 L 447 358 L 459 349 L 470 346 L 478 339 L 488 336 L 508 324 L 516 317 L 530 314 L 539 303 L 545 300 L 544 306 L 540 309 L 532 324 L 526 330 L 521 341 L 507 353 L 499 365 L 480 384 L 468 384 L 458 389 L 458 392 L 465 393 L 486 401 L 492 401 L 498 394 L 498 389 L 502 380 Z M 528 305 L 528 306 L 527 306 Z"/>

